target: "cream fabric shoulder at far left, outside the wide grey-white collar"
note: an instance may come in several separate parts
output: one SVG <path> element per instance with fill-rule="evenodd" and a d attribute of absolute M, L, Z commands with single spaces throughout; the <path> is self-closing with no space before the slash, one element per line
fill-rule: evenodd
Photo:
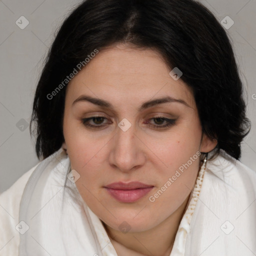
<path fill-rule="evenodd" d="M 39 164 L 39 163 L 38 163 Z M 24 187 L 38 165 L 25 172 L 15 183 L 0 194 L 0 254 L 18 255 L 19 233 L 15 226 L 19 222 L 19 204 Z"/>

